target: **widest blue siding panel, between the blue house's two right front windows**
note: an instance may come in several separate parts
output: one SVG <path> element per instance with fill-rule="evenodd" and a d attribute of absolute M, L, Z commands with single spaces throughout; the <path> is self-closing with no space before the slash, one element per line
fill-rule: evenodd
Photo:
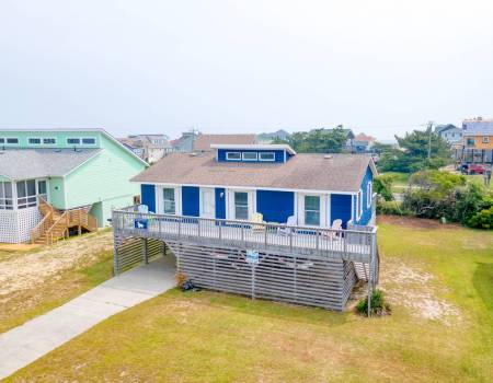
<path fill-rule="evenodd" d="M 286 222 L 295 213 L 295 193 L 256 190 L 256 211 L 267 222 Z"/>

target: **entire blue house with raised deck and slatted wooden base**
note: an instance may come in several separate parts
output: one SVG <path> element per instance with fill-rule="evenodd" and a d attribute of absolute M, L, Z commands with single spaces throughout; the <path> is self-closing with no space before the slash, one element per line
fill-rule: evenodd
<path fill-rule="evenodd" d="M 252 298 L 343 310 L 357 279 L 375 287 L 370 155 L 210 149 L 172 153 L 131 179 L 141 205 L 113 212 L 117 272 L 168 247 L 195 285 Z"/>

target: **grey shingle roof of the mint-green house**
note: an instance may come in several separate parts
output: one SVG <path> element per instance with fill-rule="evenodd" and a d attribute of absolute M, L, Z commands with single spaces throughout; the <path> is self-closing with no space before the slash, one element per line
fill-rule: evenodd
<path fill-rule="evenodd" d="M 11 179 L 62 176 L 101 151 L 102 149 L 0 150 L 0 175 Z"/>

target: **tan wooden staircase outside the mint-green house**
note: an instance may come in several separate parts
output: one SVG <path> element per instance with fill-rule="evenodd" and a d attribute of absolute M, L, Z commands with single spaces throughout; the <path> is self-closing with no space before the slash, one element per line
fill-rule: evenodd
<path fill-rule="evenodd" d="M 79 234 L 82 229 L 88 231 L 98 230 L 98 221 L 87 209 L 70 209 L 59 211 L 43 198 L 39 199 L 39 211 L 42 221 L 31 230 L 31 243 L 50 245 L 58 240 L 69 236 L 69 229 L 78 228 Z"/>

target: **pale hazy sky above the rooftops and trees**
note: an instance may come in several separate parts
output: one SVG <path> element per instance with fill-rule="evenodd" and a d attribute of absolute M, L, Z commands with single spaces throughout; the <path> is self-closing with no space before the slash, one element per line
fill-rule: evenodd
<path fill-rule="evenodd" d="M 493 117 L 493 2 L 0 0 L 0 128 L 307 130 Z"/>

